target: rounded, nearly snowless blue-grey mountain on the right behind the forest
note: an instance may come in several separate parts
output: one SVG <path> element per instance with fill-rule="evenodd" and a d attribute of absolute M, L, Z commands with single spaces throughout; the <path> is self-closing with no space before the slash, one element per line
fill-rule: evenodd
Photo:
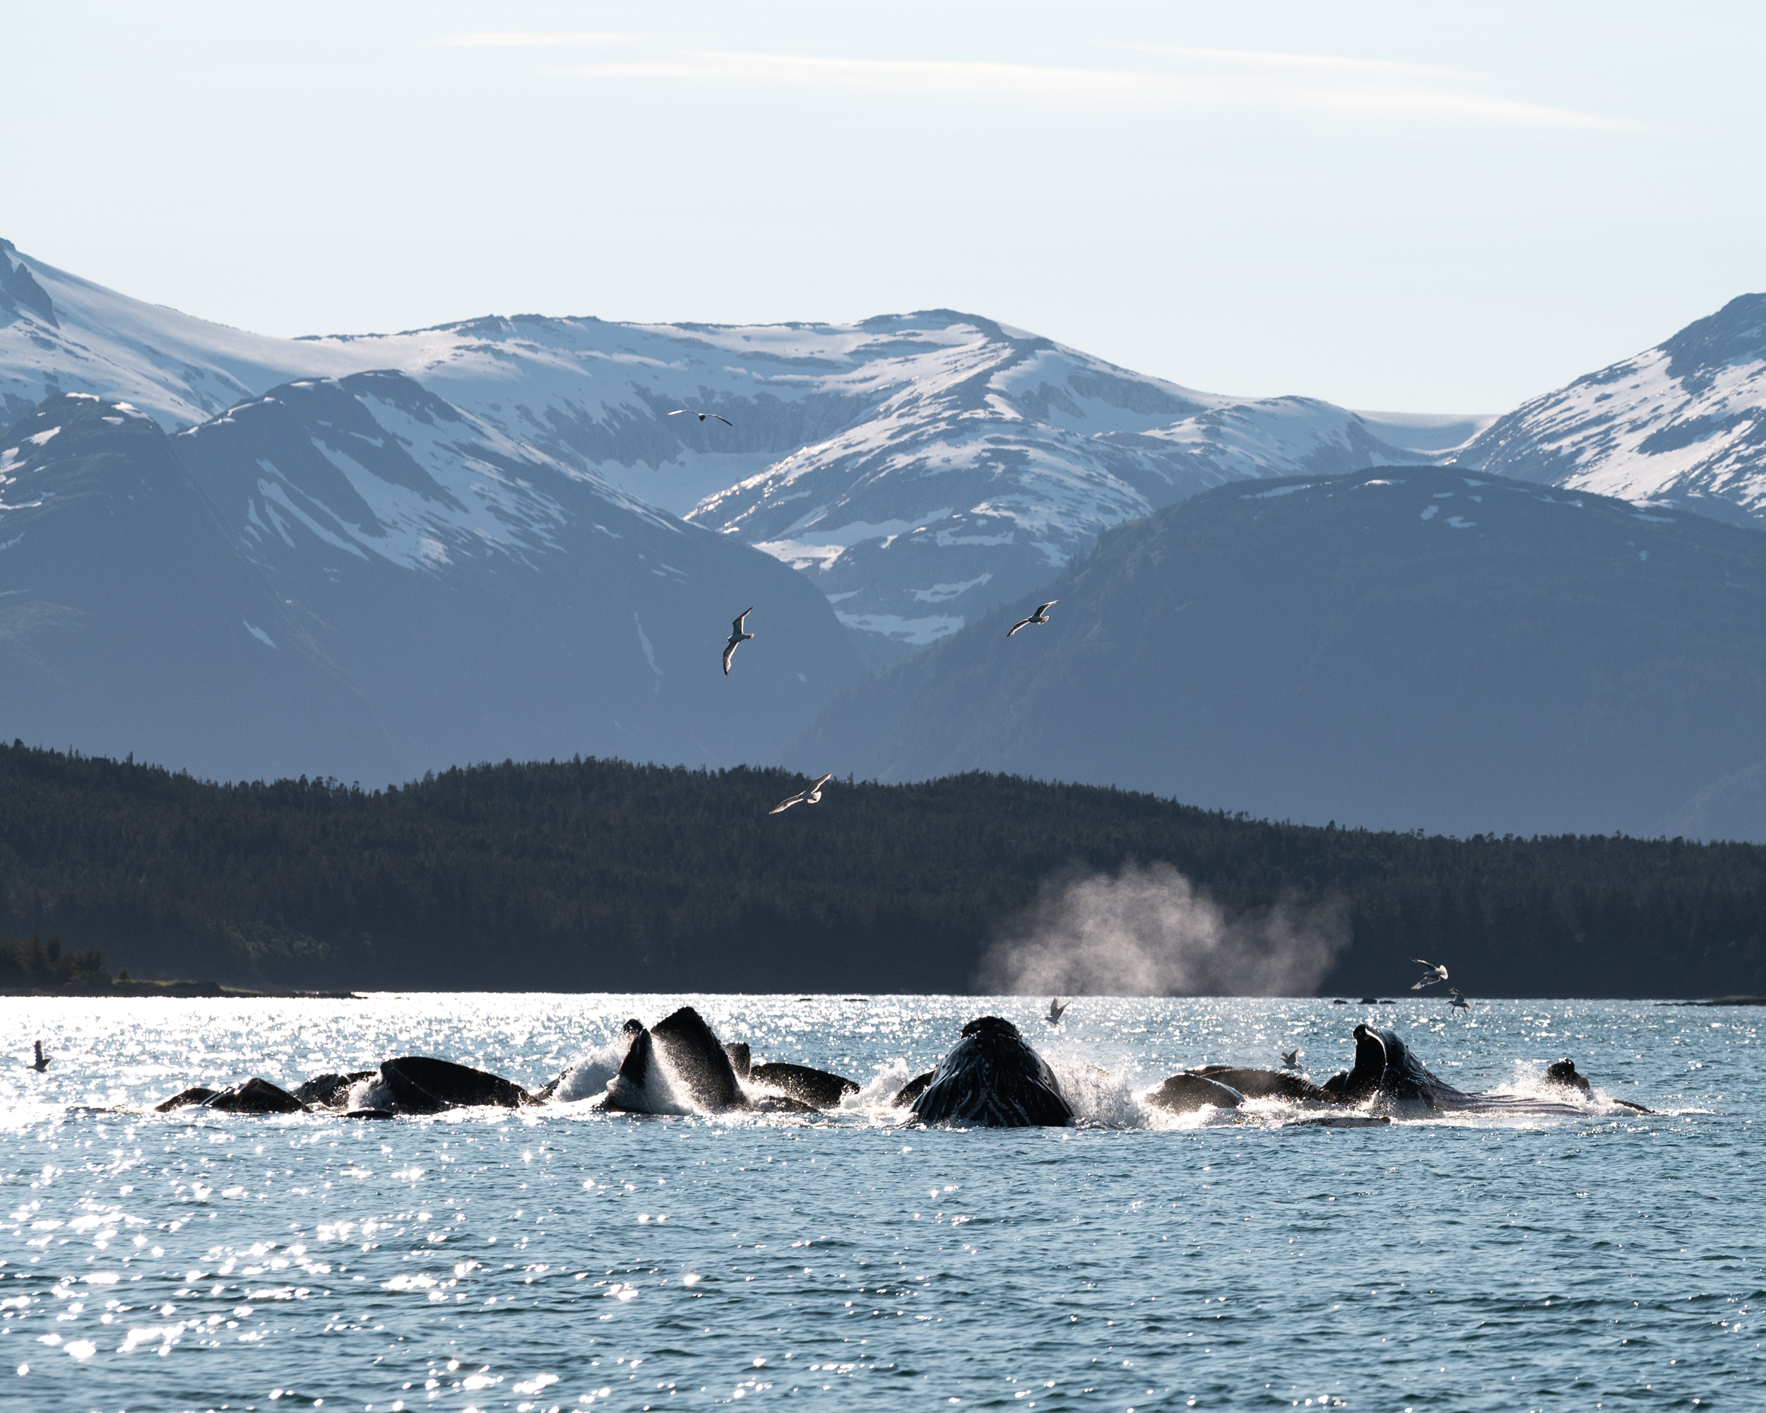
<path fill-rule="evenodd" d="M 1192 496 L 1047 597 L 1045 627 L 1008 639 L 998 613 L 897 662 L 793 759 L 1319 825 L 1766 839 L 1754 530 L 1404 466 Z"/>

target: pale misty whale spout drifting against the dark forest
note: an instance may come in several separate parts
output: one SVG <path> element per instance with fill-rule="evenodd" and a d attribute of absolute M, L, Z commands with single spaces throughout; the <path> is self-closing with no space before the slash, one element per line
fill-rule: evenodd
<path fill-rule="evenodd" d="M 1347 943 L 1340 903 L 1234 917 L 1169 864 L 1128 864 L 1045 883 L 978 982 L 1033 996 L 1300 996 Z"/>

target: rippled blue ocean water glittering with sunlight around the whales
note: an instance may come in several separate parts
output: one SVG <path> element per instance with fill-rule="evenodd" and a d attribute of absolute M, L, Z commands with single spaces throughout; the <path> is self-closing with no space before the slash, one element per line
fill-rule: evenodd
<path fill-rule="evenodd" d="M 682 1001 L 865 1092 L 823 1118 L 150 1113 L 410 1053 L 539 1086 Z M 1766 1408 L 1766 1012 L 1377 1007 L 1459 1088 L 1529 1093 L 1568 1054 L 1658 1113 L 1326 1130 L 1137 1093 L 1294 1046 L 1323 1079 L 1376 1009 L 1042 1005 L 4 1000 L 0 1404 Z M 987 1010 L 1079 1127 L 901 1123 L 887 1097 Z"/>

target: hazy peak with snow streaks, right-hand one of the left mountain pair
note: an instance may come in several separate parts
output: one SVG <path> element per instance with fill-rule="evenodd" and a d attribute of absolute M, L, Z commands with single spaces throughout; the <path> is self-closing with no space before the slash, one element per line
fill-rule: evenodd
<path fill-rule="evenodd" d="M 399 373 L 284 383 L 171 442 L 419 768 L 770 761 L 864 666 L 788 567 Z M 724 676 L 729 620 L 751 604 L 756 641 Z"/>

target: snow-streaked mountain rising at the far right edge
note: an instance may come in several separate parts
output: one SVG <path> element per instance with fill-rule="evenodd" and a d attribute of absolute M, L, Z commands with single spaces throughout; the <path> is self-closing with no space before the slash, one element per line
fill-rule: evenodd
<path fill-rule="evenodd" d="M 1766 526 L 1766 295 L 1522 403 L 1453 459 Z"/>

